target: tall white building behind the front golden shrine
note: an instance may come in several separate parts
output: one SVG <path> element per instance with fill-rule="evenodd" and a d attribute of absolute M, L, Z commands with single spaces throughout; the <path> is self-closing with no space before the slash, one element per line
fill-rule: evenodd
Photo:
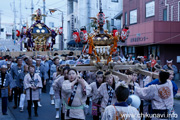
<path fill-rule="evenodd" d="M 99 13 L 99 0 L 67 0 L 67 39 L 72 39 L 73 29 L 86 26 L 88 32 L 92 32 L 92 20 L 89 17 L 96 17 Z M 123 0 L 101 0 L 102 10 L 105 14 L 106 24 L 104 29 L 112 30 L 113 26 L 121 28 Z M 108 21 L 108 22 L 107 22 Z"/>

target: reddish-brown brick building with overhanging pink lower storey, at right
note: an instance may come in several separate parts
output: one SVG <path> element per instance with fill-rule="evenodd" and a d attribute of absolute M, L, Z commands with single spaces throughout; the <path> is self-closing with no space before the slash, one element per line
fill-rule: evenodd
<path fill-rule="evenodd" d="M 130 35 L 123 50 L 126 54 L 159 56 L 161 64 L 167 59 L 180 67 L 179 0 L 123 0 L 123 24 Z"/>

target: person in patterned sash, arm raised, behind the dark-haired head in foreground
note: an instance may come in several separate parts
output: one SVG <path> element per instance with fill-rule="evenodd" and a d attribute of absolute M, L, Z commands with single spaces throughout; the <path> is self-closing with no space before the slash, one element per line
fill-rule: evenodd
<path fill-rule="evenodd" d="M 101 84 L 101 86 L 98 88 L 98 94 L 96 95 L 96 99 L 102 98 L 100 108 L 101 115 L 103 115 L 104 109 L 107 106 L 116 102 L 114 91 L 120 84 L 119 79 L 112 75 L 112 73 L 109 71 L 104 74 L 104 77 L 106 82 Z"/>

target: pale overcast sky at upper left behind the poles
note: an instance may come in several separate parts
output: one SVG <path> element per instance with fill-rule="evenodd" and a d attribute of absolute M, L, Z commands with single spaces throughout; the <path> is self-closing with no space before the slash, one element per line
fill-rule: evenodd
<path fill-rule="evenodd" d="M 64 16 L 66 16 L 67 9 L 67 0 L 45 0 L 46 2 L 46 13 L 48 13 L 46 17 L 46 24 L 49 25 L 49 22 L 55 22 L 55 26 L 60 26 L 61 24 L 61 14 L 60 12 L 56 12 L 53 15 L 50 15 L 49 8 L 58 8 L 64 11 Z M 1 22 L 2 23 L 13 23 L 14 22 L 14 0 L 0 0 L 0 11 Z M 41 8 L 41 12 L 43 13 L 43 0 L 33 0 L 34 11 L 38 8 Z M 20 0 L 15 0 L 15 8 L 16 8 L 16 23 L 20 21 Z M 21 11 L 22 11 L 22 22 L 25 23 L 28 19 L 28 24 L 31 23 L 31 0 L 21 0 Z"/>

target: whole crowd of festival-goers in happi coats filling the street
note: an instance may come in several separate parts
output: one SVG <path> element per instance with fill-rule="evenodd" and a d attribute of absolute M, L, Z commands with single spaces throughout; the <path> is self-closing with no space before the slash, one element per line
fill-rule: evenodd
<path fill-rule="evenodd" d="M 3 115 L 7 115 L 8 101 L 13 101 L 13 108 L 19 107 L 23 112 L 27 100 L 29 119 L 32 107 L 38 117 L 38 107 L 42 107 L 41 94 L 48 92 L 51 101 L 47 102 L 55 105 L 55 118 L 61 120 L 85 120 L 86 114 L 91 114 L 94 120 L 168 119 L 178 91 L 174 82 L 174 74 L 178 70 L 172 64 L 173 60 L 167 60 L 167 64 L 161 66 L 153 54 L 149 59 L 146 56 L 138 56 L 137 59 L 132 55 L 127 58 L 113 56 L 117 64 L 146 64 L 145 70 L 159 75 L 155 79 L 152 75 L 145 76 L 132 69 L 118 70 L 128 76 L 129 82 L 119 79 L 110 70 L 77 71 L 71 68 L 89 64 L 90 57 L 85 54 L 74 56 L 70 52 L 68 55 L 55 53 L 51 57 L 20 55 L 15 58 L 6 55 L 0 59 Z M 134 103 L 132 95 L 139 98 L 141 104 Z M 145 114 L 164 116 L 142 116 Z"/>

